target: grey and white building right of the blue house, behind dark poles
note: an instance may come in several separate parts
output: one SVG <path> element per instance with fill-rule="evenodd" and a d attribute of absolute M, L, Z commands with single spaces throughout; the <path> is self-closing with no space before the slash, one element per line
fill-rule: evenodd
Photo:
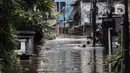
<path fill-rule="evenodd" d="M 120 0 L 113 1 L 113 7 Z M 69 26 L 72 26 L 69 30 L 70 34 L 79 34 L 79 35 L 90 35 L 92 33 L 92 0 L 71 0 L 71 6 L 73 8 L 69 20 L 71 23 Z M 98 0 L 97 1 L 97 12 L 96 12 L 96 24 L 102 25 L 102 20 L 106 16 L 108 9 L 107 0 Z M 114 12 L 113 12 L 113 15 Z M 118 15 L 117 15 L 118 16 Z M 121 18 L 115 17 L 115 27 L 118 32 L 120 29 L 119 24 L 121 23 Z"/>

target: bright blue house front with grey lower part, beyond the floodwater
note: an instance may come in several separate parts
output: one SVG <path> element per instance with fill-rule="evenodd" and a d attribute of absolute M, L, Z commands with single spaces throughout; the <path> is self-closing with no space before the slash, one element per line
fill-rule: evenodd
<path fill-rule="evenodd" d="M 69 29 L 69 19 L 72 7 L 70 6 L 70 0 L 55 0 L 56 11 L 60 13 L 57 18 L 57 32 L 58 34 L 67 34 Z"/>

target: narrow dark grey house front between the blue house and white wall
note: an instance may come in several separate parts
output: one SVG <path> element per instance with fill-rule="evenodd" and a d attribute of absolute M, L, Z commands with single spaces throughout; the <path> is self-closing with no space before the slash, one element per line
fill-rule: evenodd
<path fill-rule="evenodd" d="M 82 34 L 82 28 L 78 27 L 81 24 L 81 8 L 79 0 L 71 0 L 70 4 L 73 8 L 71 15 L 69 16 L 70 29 L 69 34 Z"/>

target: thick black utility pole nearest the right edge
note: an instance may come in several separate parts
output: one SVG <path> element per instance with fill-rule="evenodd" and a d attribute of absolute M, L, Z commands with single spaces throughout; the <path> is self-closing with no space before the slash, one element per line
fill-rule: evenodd
<path fill-rule="evenodd" d="M 123 24 L 123 52 L 124 52 L 124 73 L 130 73 L 129 62 L 129 20 L 128 20 L 128 0 L 124 0 L 125 14 Z"/>

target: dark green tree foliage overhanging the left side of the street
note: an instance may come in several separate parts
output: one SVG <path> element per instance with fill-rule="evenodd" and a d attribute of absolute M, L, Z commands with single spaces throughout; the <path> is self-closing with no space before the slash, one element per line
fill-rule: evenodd
<path fill-rule="evenodd" d="M 0 0 L 0 69 L 16 63 L 15 29 L 28 29 L 42 36 L 50 27 L 44 19 L 54 4 L 51 0 Z"/>

